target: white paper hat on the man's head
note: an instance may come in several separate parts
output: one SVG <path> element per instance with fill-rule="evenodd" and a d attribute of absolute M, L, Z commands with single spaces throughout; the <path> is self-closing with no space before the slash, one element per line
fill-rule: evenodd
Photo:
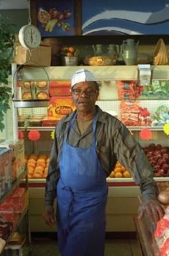
<path fill-rule="evenodd" d="M 93 74 L 89 72 L 89 70 L 82 69 L 82 70 L 77 70 L 72 76 L 72 84 L 71 86 L 73 87 L 75 84 L 80 83 L 80 82 L 96 82 Z"/>

